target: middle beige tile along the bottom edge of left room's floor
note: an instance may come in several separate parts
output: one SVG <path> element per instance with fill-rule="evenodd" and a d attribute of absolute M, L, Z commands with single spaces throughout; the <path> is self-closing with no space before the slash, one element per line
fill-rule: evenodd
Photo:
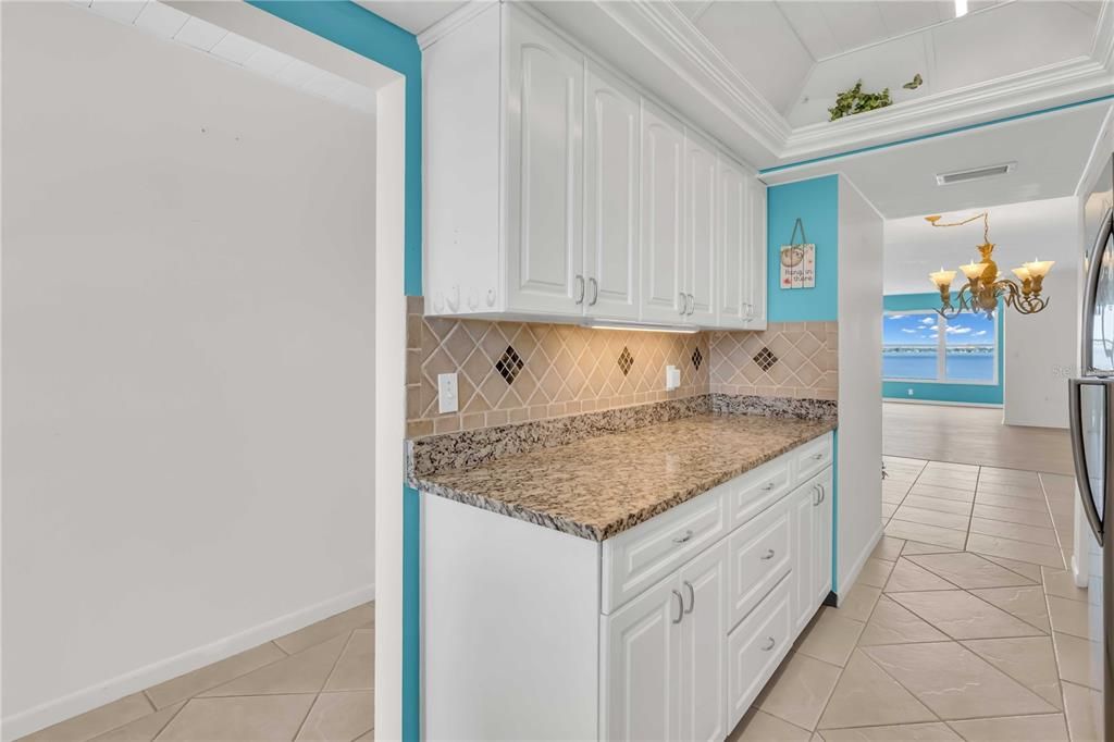
<path fill-rule="evenodd" d="M 313 699 L 313 694 L 193 699 L 156 739 L 158 742 L 292 740 Z"/>

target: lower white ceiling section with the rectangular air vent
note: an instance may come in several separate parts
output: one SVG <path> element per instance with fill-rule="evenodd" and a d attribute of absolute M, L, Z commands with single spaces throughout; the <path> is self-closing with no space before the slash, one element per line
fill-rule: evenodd
<path fill-rule="evenodd" d="M 763 175 L 769 184 L 842 173 L 886 218 L 1075 193 L 1111 104 L 1091 104 Z M 1003 176 L 940 186 L 939 173 L 1016 162 Z"/>

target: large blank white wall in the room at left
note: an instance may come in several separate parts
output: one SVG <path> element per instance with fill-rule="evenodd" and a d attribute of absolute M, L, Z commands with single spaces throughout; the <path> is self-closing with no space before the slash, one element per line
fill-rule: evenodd
<path fill-rule="evenodd" d="M 3 3 L 4 735 L 373 590 L 374 119 Z"/>

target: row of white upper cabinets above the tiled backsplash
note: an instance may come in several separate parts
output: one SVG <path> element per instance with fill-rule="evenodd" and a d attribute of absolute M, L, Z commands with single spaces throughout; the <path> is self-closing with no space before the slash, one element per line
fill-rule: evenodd
<path fill-rule="evenodd" d="M 753 172 L 530 11 L 460 12 L 423 40 L 426 312 L 764 326 Z"/>

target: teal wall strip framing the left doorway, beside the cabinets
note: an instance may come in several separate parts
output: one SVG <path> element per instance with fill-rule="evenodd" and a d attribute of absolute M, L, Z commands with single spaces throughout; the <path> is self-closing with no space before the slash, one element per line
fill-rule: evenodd
<path fill-rule="evenodd" d="M 421 295 L 421 50 L 412 33 L 348 0 L 248 0 L 273 16 L 405 78 L 405 275 L 410 296 Z M 373 208 L 374 204 L 369 204 Z M 420 724 L 420 527 L 418 492 L 402 487 L 402 739 Z M 370 524 L 369 524 L 370 526 Z"/>

